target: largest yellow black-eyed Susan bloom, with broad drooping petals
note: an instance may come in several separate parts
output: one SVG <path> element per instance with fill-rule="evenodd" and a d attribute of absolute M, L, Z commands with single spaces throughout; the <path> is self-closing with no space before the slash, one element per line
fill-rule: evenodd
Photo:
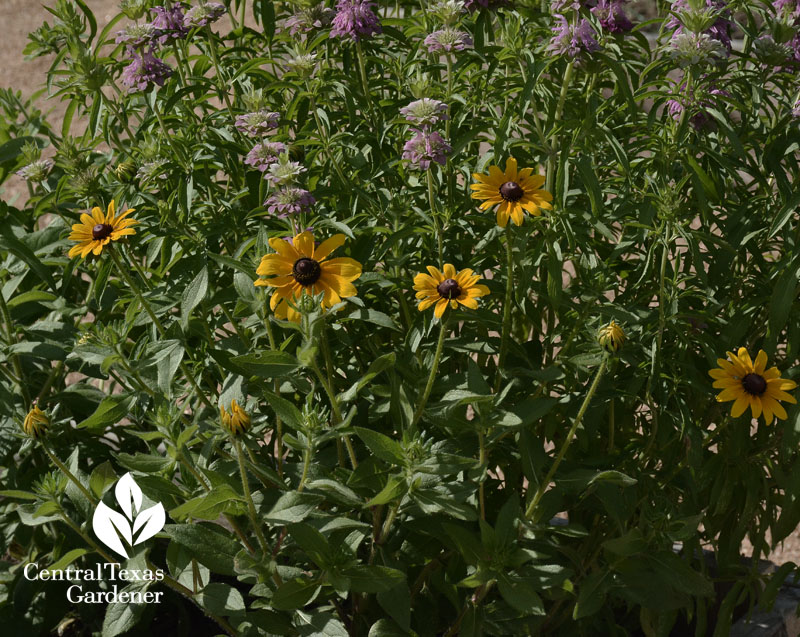
<path fill-rule="evenodd" d="M 322 307 L 326 309 L 358 293 L 352 281 L 361 276 L 361 264 L 347 257 L 328 259 L 344 241 L 343 234 L 336 234 L 316 246 L 314 235 L 308 231 L 298 234 L 291 243 L 277 237 L 269 240 L 275 253 L 261 258 L 256 273 L 272 278 L 258 279 L 255 285 L 275 288 L 270 308 L 276 317 L 298 323 L 300 313 L 289 302 L 296 304 L 303 294 L 323 293 Z"/>

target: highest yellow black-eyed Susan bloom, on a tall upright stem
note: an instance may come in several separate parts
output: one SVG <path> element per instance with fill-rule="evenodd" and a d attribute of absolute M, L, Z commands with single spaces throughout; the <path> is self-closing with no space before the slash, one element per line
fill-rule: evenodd
<path fill-rule="evenodd" d="M 499 166 L 489 166 L 489 174 L 473 173 L 472 178 L 479 183 L 470 188 L 473 199 L 482 199 L 481 210 L 497 206 L 497 225 L 505 228 L 508 218 L 518 226 L 522 225 L 523 210 L 534 216 L 542 214 L 542 209 L 549 210 L 553 200 L 546 190 L 542 190 L 545 178 L 532 175 L 533 168 L 517 170 L 517 160 L 509 157 L 505 171 Z"/>

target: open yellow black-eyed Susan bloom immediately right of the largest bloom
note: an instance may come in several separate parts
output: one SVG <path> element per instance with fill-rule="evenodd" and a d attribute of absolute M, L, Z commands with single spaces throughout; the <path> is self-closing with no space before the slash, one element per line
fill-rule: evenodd
<path fill-rule="evenodd" d="M 442 318 L 448 304 L 453 309 L 460 303 L 477 310 L 478 302 L 475 299 L 489 294 L 489 288 L 478 284 L 480 276 L 469 268 L 456 273 L 453 264 L 445 263 L 444 272 L 432 265 L 427 266 L 427 269 L 429 274 L 421 272 L 414 277 L 414 289 L 420 299 L 419 310 L 427 310 L 435 304 L 433 313 L 436 318 Z"/>

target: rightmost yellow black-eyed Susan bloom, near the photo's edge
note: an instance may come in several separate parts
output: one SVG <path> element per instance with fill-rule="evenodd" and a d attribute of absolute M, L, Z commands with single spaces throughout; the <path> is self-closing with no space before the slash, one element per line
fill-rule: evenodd
<path fill-rule="evenodd" d="M 796 403 L 794 397 L 786 392 L 797 387 L 797 383 L 781 378 L 777 367 L 767 369 L 764 350 L 759 350 L 755 362 L 744 347 L 740 347 L 736 354 L 728 352 L 728 359 L 718 358 L 719 367 L 708 373 L 714 379 L 714 387 L 722 390 L 717 400 L 736 401 L 731 416 L 738 418 L 750 407 L 753 418 L 763 415 L 768 425 L 775 416 L 785 420 L 786 410 L 778 401 Z"/>

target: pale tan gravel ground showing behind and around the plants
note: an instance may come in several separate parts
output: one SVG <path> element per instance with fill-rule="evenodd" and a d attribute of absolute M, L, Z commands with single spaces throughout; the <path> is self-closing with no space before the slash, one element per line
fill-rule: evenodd
<path fill-rule="evenodd" d="M 25 60 L 22 49 L 27 43 L 27 34 L 39 27 L 42 22 L 53 23 L 53 16 L 44 6 L 53 6 L 55 0 L 45 0 L 42 3 L 32 0 L 0 0 L 0 9 L 3 9 L 6 35 L 0 38 L 0 86 L 13 87 L 22 91 L 25 97 L 30 97 L 38 90 L 45 80 L 50 60 L 37 58 Z M 117 13 L 116 0 L 86 0 L 86 4 L 94 12 L 98 28 L 102 29 Z M 653 17 L 652 0 L 648 2 L 637 1 L 632 3 L 637 17 Z M 60 121 L 64 114 L 65 105 L 49 100 L 42 96 L 37 100 L 37 106 L 48 113 L 51 122 Z M 24 197 L 25 186 L 14 179 L 0 186 L 0 197 L 4 201 L 13 201 L 15 197 Z M 750 555 L 752 547 L 748 542 L 742 545 L 742 553 Z M 778 564 L 793 561 L 800 563 L 800 531 L 795 531 L 783 545 L 776 547 L 767 558 Z"/>

